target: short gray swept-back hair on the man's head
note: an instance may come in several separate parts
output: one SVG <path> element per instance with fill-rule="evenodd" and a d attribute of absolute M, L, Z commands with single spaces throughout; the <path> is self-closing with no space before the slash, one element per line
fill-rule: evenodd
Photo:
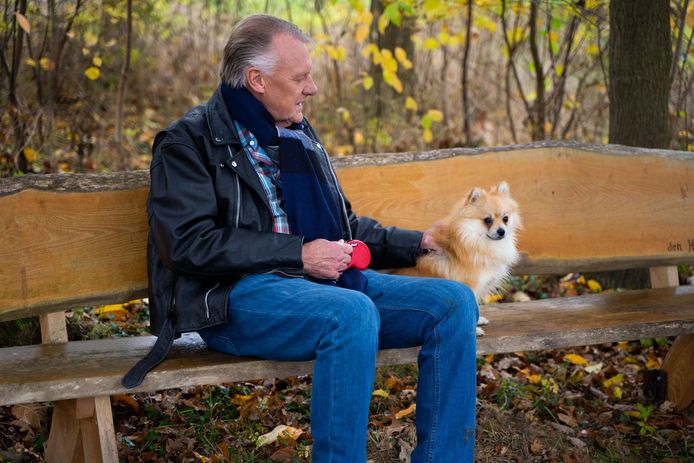
<path fill-rule="evenodd" d="M 272 51 L 272 38 L 277 34 L 289 34 L 303 43 L 311 42 L 309 36 L 295 24 L 266 14 L 246 16 L 236 24 L 224 47 L 224 57 L 219 77 L 230 87 L 246 85 L 246 69 L 249 66 L 261 72 L 272 71 L 277 57 Z"/>

